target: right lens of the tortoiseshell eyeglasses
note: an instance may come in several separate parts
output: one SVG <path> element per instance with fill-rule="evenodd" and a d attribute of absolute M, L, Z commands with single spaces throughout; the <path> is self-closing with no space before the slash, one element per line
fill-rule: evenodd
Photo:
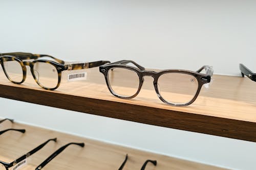
<path fill-rule="evenodd" d="M 58 84 L 58 71 L 52 64 L 34 63 L 33 74 L 37 82 L 45 88 L 55 88 Z"/>

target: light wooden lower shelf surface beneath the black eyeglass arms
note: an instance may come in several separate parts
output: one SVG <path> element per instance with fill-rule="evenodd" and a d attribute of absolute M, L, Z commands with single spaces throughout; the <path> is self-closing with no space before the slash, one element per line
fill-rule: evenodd
<path fill-rule="evenodd" d="M 70 145 L 65 151 L 54 158 L 43 169 L 93 169 L 93 170 L 113 170 L 118 169 L 123 162 L 125 155 L 129 158 L 124 170 L 140 169 L 147 159 L 157 160 L 157 166 L 148 164 L 150 169 L 186 169 L 186 170 L 224 170 L 216 166 L 205 165 L 197 162 L 186 161 L 172 158 L 164 155 L 157 155 L 149 152 L 143 152 L 131 148 L 120 147 L 109 143 L 82 138 L 55 132 L 52 130 L 32 127 L 23 124 L 10 122 L 3 123 L 0 130 L 7 128 L 26 129 L 25 134 L 18 132 L 7 132 L 0 136 L 0 160 L 11 162 L 19 156 L 37 147 L 50 138 L 57 137 L 57 143 L 49 142 L 44 148 L 28 158 L 28 164 L 23 167 L 24 170 L 35 169 L 42 161 L 55 152 L 59 147 L 69 142 L 84 142 L 85 147 L 80 148 L 76 145 Z"/>

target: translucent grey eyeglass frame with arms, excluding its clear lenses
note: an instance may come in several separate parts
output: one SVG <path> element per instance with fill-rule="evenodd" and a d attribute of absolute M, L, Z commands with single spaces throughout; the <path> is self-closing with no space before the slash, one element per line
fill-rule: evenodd
<path fill-rule="evenodd" d="M 129 65 L 126 65 L 126 64 L 129 64 L 129 63 L 132 63 L 134 64 L 136 67 L 133 67 L 133 66 L 129 66 Z M 130 69 L 130 70 L 133 70 L 137 73 L 138 77 L 139 77 L 139 87 L 138 87 L 138 90 L 137 92 L 132 95 L 132 96 L 121 96 L 117 93 L 115 93 L 115 91 L 112 89 L 111 85 L 110 85 L 110 82 L 108 80 L 108 72 L 110 70 L 112 70 L 113 68 L 126 68 L 126 69 Z M 208 70 L 208 72 L 206 72 L 206 74 L 202 74 L 200 73 L 202 70 Z M 101 65 L 99 67 L 99 71 L 104 75 L 105 77 L 105 81 L 106 81 L 106 85 L 108 86 L 110 92 L 117 96 L 118 98 L 121 98 L 121 99 L 132 99 L 132 98 L 135 98 L 135 96 L 137 96 L 139 94 L 139 91 L 142 87 L 142 84 L 144 82 L 144 79 L 143 77 L 144 76 L 151 76 L 154 78 L 154 87 L 155 87 L 155 90 L 156 90 L 156 93 L 157 93 L 157 96 L 158 98 L 168 104 L 168 105 L 171 105 L 171 106 L 187 106 L 187 105 L 190 105 L 191 103 L 193 103 L 196 99 L 197 99 L 197 96 L 201 90 L 201 87 L 203 84 L 205 83 L 209 83 L 210 80 L 211 80 L 211 76 L 213 74 L 213 69 L 211 66 L 202 66 L 199 70 L 197 71 L 189 71 L 189 70 L 181 70 L 181 69 L 165 69 L 165 70 L 161 70 L 161 71 L 150 71 L 150 70 L 145 70 L 144 67 L 140 66 L 139 64 L 137 64 L 136 62 L 134 61 L 131 61 L 131 60 L 121 60 L 121 61 L 117 61 L 117 62 L 114 62 L 114 63 L 110 63 L 110 64 L 105 64 L 105 65 Z M 175 104 L 175 103 L 170 103 L 168 101 L 166 101 L 160 94 L 160 91 L 158 90 L 158 87 L 157 87 L 157 82 L 158 82 L 158 78 L 163 75 L 163 74 L 166 74 L 166 73 L 180 73 L 180 74 L 187 74 L 187 75 L 191 75 L 193 77 L 195 77 L 198 81 L 198 89 L 197 89 L 197 92 L 194 96 L 194 98 L 185 103 L 185 104 Z"/>

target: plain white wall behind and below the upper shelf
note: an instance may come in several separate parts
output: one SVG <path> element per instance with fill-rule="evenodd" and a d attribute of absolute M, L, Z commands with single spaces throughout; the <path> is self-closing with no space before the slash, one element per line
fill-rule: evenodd
<path fill-rule="evenodd" d="M 256 1 L 4 0 L 0 7 L 2 53 L 132 59 L 147 68 L 195 70 L 208 64 L 227 75 L 239 75 L 241 62 L 256 72 Z M 255 167 L 252 142 L 7 99 L 0 99 L 0 107 L 0 116 L 18 122 L 233 169 Z M 17 113 L 28 109 L 36 112 Z"/>

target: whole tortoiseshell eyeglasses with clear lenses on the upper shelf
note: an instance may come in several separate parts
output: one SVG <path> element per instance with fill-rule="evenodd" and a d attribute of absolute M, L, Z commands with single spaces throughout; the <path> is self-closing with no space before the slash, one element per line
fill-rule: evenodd
<path fill-rule="evenodd" d="M 70 63 L 56 59 L 48 55 L 39 55 L 31 53 L 5 53 L 1 54 L 0 63 L 3 67 L 6 77 L 14 84 L 22 84 L 27 75 L 26 66 L 30 66 L 32 76 L 36 83 L 47 90 L 55 90 L 59 87 L 61 81 L 61 71 L 63 70 L 77 70 L 92 67 L 98 67 L 102 64 L 110 63 L 110 61 L 95 61 Z M 37 59 L 39 57 L 50 57 L 55 61 Z M 29 59 L 37 59 L 32 62 L 23 61 Z"/>

